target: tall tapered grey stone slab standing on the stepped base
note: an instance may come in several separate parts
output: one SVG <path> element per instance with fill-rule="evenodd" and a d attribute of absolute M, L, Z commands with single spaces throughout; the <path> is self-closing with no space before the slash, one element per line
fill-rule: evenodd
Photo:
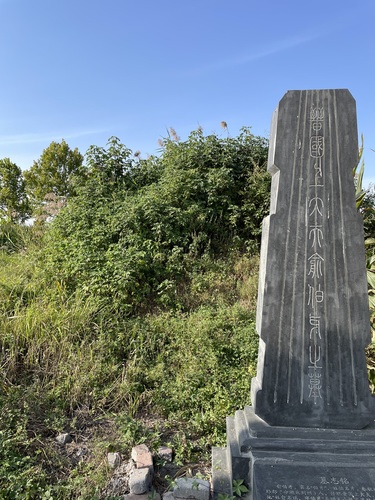
<path fill-rule="evenodd" d="M 271 425 L 359 429 L 374 419 L 357 137 L 347 90 L 290 91 L 273 118 L 252 384 L 255 413 Z"/>

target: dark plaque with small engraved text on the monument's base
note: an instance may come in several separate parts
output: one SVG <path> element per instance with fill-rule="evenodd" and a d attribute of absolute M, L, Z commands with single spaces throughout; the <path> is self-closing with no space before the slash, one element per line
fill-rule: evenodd
<path fill-rule="evenodd" d="M 329 458 L 334 460 L 334 456 Z M 337 467 L 260 459 L 255 461 L 253 473 L 253 500 L 375 498 L 375 468 L 363 463 Z"/>

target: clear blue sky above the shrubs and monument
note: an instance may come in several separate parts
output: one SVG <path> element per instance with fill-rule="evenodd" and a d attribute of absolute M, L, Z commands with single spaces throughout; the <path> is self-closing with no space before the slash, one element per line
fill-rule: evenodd
<path fill-rule="evenodd" d="M 23 169 L 63 138 L 268 137 L 287 90 L 348 88 L 375 182 L 373 0 L 0 0 L 0 23 L 0 158 Z"/>

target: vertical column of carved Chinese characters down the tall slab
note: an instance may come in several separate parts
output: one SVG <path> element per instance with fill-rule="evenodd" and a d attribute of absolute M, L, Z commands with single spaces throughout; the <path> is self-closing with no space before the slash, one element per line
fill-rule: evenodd
<path fill-rule="evenodd" d="M 307 234 L 308 254 L 306 261 L 307 290 L 305 297 L 308 308 L 308 397 L 317 404 L 323 397 L 324 380 L 322 377 L 322 329 L 324 290 L 322 288 L 325 266 L 323 257 L 325 203 L 323 197 L 325 155 L 324 107 L 313 103 L 310 109 L 309 165 L 312 168 L 313 183 L 307 192 Z"/>

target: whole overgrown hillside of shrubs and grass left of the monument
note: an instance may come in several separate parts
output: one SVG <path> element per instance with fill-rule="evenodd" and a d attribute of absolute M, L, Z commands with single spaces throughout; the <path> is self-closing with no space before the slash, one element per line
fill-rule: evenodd
<path fill-rule="evenodd" d="M 3 498 L 99 498 L 107 451 L 144 441 L 202 461 L 255 373 L 267 141 L 172 131 L 142 159 L 111 138 L 46 200 L 62 146 L 25 174 L 36 222 L 1 222 Z"/>

